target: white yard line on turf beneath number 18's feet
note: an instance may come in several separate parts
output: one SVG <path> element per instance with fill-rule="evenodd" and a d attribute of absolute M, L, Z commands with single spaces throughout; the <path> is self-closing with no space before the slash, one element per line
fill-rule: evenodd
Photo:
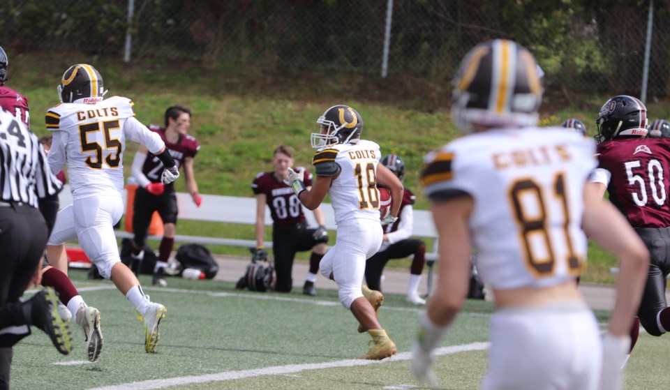
<path fill-rule="evenodd" d="M 435 350 L 436 355 L 457 354 L 460 352 L 482 351 L 489 348 L 489 343 L 472 343 L 464 345 L 454 345 L 452 347 L 442 347 Z M 369 366 L 371 364 L 383 364 L 393 361 L 409 360 L 410 352 L 397 354 L 383 361 L 349 359 L 340 361 L 329 361 L 325 363 L 306 363 L 290 364 L 288 366 L 275 366 L 266 368 L 255 368 L 253 370 L 227 371 L 218 374 L 209 375 L 189 375 L 186 377 L 174 377 L 161 380 L 144 380 L 141 382 L 130 382 L 124 384 L 115 384 L 113 386 L 95 387 L 89 390 L 150 390 L 165 389 L 171 386 L 183 386 L 185 384 L 204 383 L 204 382 L 223 382 L 227 380 L 238 380 L 250 377 L 260 377 L 264 375 L 287 375 L 299 373 L 305 370 L 321 370 L 325 368 Z"/>

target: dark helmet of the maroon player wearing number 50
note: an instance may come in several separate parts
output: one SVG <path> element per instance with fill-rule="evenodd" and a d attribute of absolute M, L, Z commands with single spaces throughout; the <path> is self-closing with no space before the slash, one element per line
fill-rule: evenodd
<path fill-rule="evenodd" d="M 595 123 L 598 130 L 595 140 L 599 143 L 618 137 L 645 137 L 647 107 L 632 96 L 614 96 L 602 106 Z"/>

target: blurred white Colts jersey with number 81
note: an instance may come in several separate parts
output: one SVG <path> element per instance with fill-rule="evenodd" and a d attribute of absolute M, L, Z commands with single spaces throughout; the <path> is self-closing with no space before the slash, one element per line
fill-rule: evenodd
<path fill-rule="evenodd" d="M 489 130 L 429 153 L 422 182 L 433 201 L 475 200 L 470 232 L 485 283 L 546 287 L 581 272 L 582 196 L 594 156 L 593 140 L 565 128 Z"/>

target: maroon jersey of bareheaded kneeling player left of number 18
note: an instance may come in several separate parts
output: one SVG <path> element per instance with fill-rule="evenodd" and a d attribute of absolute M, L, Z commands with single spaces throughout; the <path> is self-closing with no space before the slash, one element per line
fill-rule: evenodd
<path fill-rule="evenodd" d="M 304 170 L 304 168 L 301 168 Z M 296 169 L 298 170 L 298 169 Z M 305 186 L 312 185 L 312 174 L 305 170 Z M 260 172 L 253 179 L 251 189 L 254 195 L 265 194 L 265 203 L 270 208 L 274 225 L 295 225 L 305 220 L 300 200 L 293 188 L 274 177 L 274 172 Z"/>

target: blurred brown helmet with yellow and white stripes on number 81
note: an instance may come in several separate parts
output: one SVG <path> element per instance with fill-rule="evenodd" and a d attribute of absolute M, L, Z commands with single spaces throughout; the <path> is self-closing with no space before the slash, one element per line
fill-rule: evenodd
<path fill-rule="evenodd" d="M 537 125 L 543 92 L 538 66 L 512 40 L 489 40 L 470 50 L 452 87 L 452 120 L 462 131 Z"/>

